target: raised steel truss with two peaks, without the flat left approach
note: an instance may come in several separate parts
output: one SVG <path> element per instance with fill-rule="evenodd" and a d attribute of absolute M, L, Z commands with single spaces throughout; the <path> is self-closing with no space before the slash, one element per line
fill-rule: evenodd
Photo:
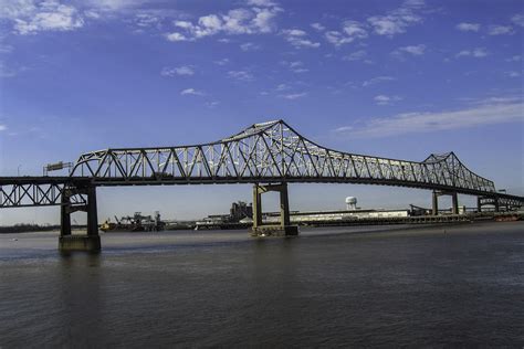
<path fill-rule="evenodd" d="M 453 152 L 421 162 L 343 152 L 308 140 L 283 120 L 255 124 L 210 144 L 86 152 L 72 176 L 87 176 L 96 186 L 347 182 L 495 192 L 491 180 Z"/>

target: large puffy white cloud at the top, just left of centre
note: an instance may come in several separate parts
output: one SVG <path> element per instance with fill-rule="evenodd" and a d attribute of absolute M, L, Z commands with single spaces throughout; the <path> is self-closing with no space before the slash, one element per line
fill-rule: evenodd
<path fill-rule="evenodd" d="M 274 19 L 282 12 L 272 1 L 251 0 L 252 8 L 240 8 L 227 13 L 200 17 L 195 23 L 175 21 L 175 32 L 167 33 L 169 41 L 195 41 L 206 36 L 223 34 L 262 34 L 273 32 Z"/>

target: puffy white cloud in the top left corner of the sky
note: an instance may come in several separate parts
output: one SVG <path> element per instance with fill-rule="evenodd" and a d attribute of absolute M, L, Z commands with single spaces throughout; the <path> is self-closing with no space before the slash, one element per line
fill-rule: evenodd
<path fill-rule="evenodd" d="M 56 0 L 11 0 L 4 1 L 1 7 L 0 17 L 11 20 L 14 31 L 22 35 L 41 31 L 72 31 L 84 25 L 76 8 Z"/>

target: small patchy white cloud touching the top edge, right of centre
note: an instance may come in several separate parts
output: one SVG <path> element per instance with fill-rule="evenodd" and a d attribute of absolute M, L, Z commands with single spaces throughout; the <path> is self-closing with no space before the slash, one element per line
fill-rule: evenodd
<path fill-rule="evenodd" d="M 386 15 L 374 15 L 367 19 L 378 35 L 394 36 L 405 33 L 407 28 L 422 21 L 417 11 L 425 6 L 423 1 L 405 1 L 404 4 Z"/>

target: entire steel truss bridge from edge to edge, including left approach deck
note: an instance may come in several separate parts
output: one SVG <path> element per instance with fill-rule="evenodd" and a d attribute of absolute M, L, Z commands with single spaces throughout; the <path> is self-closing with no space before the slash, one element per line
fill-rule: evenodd
<path fill-rule="evenodd" d="M 209 144 L 85 152 L 67 177 L 0 177 L 0 208 L 86 207 L 91 187 L 253 183 L 256 213 L 262 192 L 276 190 L 287 202 L 286 184 L 293 182 L 429 189 L 434 214 L 442 194 L 452 195 L 455 213 L 458 193 L 476 195 L 479 209 L 482 204 L 495 210 L 524 205 L 524 198 L 497 192 L 493 181 L 468 169 L 453 152 L 432 154 L 420 162 L 343 152 L 322 147 L 276 120 Z M 92 191 L 91 195 L 95 198 Z M 283 222 L 289 211 L 284 209 Z"/>

